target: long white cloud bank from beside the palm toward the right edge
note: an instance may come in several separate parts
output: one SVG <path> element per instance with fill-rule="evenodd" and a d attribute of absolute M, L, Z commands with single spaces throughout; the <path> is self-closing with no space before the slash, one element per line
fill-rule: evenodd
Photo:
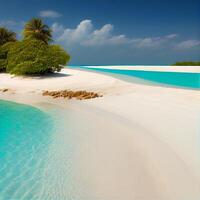
<path fill-rule="evenodd" d="M 102 46 L 102 45 L 130 45 L 136 48 L 158 48 L 175 43 L 177 34 L 169 34 L 160 37 L 130 38 L 125 34 L 116 35 L 113 33 L 114 26 L 105 24 L 99 29 L 95 29 L 91 20 L 83 20 L 74 29 L 65 28 L 58 23 L 52 25 L 55 32 L 55 40 L 67 46 Z"/>

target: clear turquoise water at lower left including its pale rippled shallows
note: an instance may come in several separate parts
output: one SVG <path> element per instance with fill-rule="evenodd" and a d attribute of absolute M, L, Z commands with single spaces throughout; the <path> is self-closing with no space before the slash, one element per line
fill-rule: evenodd
<path fill-rule="evenodd" d="M 70 109 L 44 106 L 47 113 L 0 100 L 0 200 L 83 199 L 81 123 Z"/>

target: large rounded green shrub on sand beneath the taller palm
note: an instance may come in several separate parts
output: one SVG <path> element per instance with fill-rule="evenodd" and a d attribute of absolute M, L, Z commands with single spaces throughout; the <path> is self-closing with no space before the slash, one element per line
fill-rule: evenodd
<path fill-rule="evenodd" d="M 15 42 L 8 51 L 6 71 L 16 75 L 45 74 L 60 71 L 69 59 L 70 56 L 58 45 L 26 39 Z"/>

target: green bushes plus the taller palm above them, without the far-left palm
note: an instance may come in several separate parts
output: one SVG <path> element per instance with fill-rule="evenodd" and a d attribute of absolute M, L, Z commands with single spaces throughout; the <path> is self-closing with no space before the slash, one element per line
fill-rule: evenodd
<path fill-rule="evenodd" d="M 0 45 L 0 71 L 16 75 L 46 74 L 60 71 L 69 62 L 70 56 L 62 47 L 50 44 L 52 31 L 41 19 L 27 22 L 23 35 L 21 41 L 15 37 Z"/>

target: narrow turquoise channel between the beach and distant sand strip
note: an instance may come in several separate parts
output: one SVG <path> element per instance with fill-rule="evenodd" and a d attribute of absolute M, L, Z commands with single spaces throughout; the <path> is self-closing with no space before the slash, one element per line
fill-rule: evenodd
<path fill-rule="evenodd" d="M 119 69 L 103 69 L 81 66 L 81 69 L 88 69 L 97 72 L 107 73 L 110 75 L 118 75 L 118 78 L 135 82 L 135 77 L 149 81 L 155 84 L 198 89 L 200 88 L 199 73 L 183 73 L 183 72 L 152 72 L 139 70 L 119 70 Z M 134 68 L 134 67 L 133 67 Z"/>

